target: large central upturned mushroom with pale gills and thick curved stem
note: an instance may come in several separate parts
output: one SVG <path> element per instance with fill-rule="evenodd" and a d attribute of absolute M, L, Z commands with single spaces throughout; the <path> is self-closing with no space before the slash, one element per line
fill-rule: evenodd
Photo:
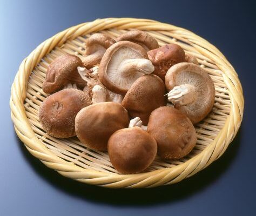
<path fill-rule="evenodd" d="M 125 95 L 136 79 L 153 70 L 142 46 L 120 41 L 104 53 L 99 65 L 99 79 L 110 91 Z"/>

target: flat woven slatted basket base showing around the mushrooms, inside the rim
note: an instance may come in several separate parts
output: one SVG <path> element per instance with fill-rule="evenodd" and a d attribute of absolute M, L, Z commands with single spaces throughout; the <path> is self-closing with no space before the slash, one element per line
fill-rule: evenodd
<path fill-rule="evenodd" d="M 116 38 L 120 33 L 127 30 L 108 29 L 100 31 Z M 159 45 L 167 43 L 176 43 L 180 45 L 186 53 L 197 57 L 199 65 L 204 68 L 213 79 L 215 85 L 215 103 L 210 114 L 196 125 L 197 145 L 187 157 L 180 160 L 162 160 L 158 156 L 151 166 L 145 172 L 159 170 L 166 167 L 173 167 L 190 160 L 210 145 L 220 130 L 223 128 L 226 118 L 230 113 L 230 96 L 228 95 L 227 86 L 224 83 L 223 72 L 215 65 L 212 60 L 201 55 L 185 38 L 181 38 L 168 31 L 147 31 L 158 40 Z M 109 173 L 118 173 L 112 166 L 107 152 L 93 151 L 85 147 L 74 137 L 69 139 L 57 139 L 49 136 L 44 132 L 38 119 L 39 106 L 49 95 L 42 90 L 42 84 L 45 79 L 45 72 L 48 65 L 56 57 L 69 53 L 72 55 L 82 56 L 85 53 L 85 40 L 90 35 L 79 36 L 73 40 L 66 41 L 61 47 L 56 47 L 46 55 L 36 68 L 31 72 L 28 90 L 24 106 L 26 116 L 31 123 L 32 129 L 42 143 L 56 156 L 74 163 L 85 169 L 97 170 Z"/>

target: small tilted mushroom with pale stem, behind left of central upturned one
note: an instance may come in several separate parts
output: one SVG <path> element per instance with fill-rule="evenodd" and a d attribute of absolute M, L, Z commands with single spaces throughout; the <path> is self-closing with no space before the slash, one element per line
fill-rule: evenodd
<path fill-rule="evenodd" d="M 86 40 L 85 57 L 83 63 L 85 68 L 91 69 L 100 63 L 105 51 L 116 41 L 104 33 L 95 33 Z"/>

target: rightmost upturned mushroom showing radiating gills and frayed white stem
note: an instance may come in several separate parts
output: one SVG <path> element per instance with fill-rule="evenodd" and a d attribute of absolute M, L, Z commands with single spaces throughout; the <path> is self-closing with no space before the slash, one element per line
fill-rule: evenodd
<path fill-rule="evenodd" d="M 165 86 L 169 102 L 190 118 L 193 124 L 212 110 L 215 89 L 211 77 L 200 66 L 179 63 L 166 73 Z"/>

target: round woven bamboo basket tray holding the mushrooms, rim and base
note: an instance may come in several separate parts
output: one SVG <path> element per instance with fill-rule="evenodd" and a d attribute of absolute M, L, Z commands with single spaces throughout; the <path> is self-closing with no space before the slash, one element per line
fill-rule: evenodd
<path fill-rule="evenodd" d="M 38 109 L 48 96 L 42 84 L 48 65 L 64 53 L 83 55 L 85 39 L 94 32 L 116 38 L 131 29 L 148 32 L 159 45 L 175 43 L 197 57 L 213 79 L 215 103 L 212 112 L 196 125 L 197 145 L 187 157 L 163 161 L 156 158 L 143 173 L 119 174 L 107 152 L 87 149 L 77 138 L 57 139 L 44 132 Z M 105 18 L 73 26 L 45 40 L 26 57 L 11 88 L 11 118 L 15 131 L 29 152 L 46 166 L 82 183 L 112 188 L 156 187 L 193 176 L 218 159 L 240 127 L 244 111 L 242 87 L 225 56 L 191 31 L 148 19 Z"/>

